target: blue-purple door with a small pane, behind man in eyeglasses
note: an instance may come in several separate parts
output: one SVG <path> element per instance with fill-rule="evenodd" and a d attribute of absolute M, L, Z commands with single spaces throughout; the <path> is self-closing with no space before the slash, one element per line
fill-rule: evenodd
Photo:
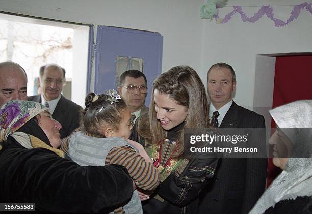
<path fill-rule="evenodd" d="M 163 36 L 160 33 L 119 27 L 98 26 L 95 55 L 96 94 L 114 89 L 122 72 L 129 69 L 142 71 L 147 79 L 149 106 L 151 87 L 160 75 L 163 54 Z"/>

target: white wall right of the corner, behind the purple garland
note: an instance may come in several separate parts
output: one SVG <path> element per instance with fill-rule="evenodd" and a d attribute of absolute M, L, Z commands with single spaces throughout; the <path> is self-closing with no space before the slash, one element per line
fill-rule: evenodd
<path fill-rule="evenodd" d="M 242 5 L 248 17 L 253 16 L 262 5 L 296 5 L 304 1 L 298 0 L 229 0 L 227 6 Z M 311 2 L 311 1 L 307 1 Z M 256 6 L 256 7 L 247 7 Z M 276 18 L 287 20 L 293 6 L 273 6 Z M 219 10 L 220 17 L 233 10 L 224 7 Z M 202 64 L 200 74 L 205 78 L 209 67 L 217 62 L 225 62 L 233 66 L 236 71 L 237 92 L 235 101 L 249 109 L 253 107 L 255 68 L 257 54 L 311 52 L 312 50 L 312 16 L 303 10 L 293 22 L 285 27 L 274 27 L 274 22 L 263 16 L 255 23 L 242 22 L 241 16 L 236 14 L 225 24 L 216 21 L 202 20 Z M 261 96 L 261 95 L 257 95 Z M 262 93 L 262 96 L 267 96 Z M 257 103 L 255 107 L 264 107 Z"/>

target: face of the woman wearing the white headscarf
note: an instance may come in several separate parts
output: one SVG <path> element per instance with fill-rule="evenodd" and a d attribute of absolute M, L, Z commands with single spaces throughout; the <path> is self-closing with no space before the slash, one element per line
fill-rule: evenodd
<path fill-rule="evenodd" d="M 269 143 L 273 146 L 273 164 L 285 170 L 286 163 L 293 152 L 293 143 L 280 130 L 277 129 L 270 137 Z"/>

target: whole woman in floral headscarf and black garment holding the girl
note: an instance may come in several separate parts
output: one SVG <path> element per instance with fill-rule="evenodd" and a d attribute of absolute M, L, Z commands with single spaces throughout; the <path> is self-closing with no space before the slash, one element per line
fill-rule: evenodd
<path fill-rule="evenodd" d="M 57 149 L 60 129 L 40 103 L 14 100 L 1 107 L 0 202 L 35 203 L 49 212 L 109 212 L 126 203 L 134 189 L 126 168 L 65 159 Z"/>

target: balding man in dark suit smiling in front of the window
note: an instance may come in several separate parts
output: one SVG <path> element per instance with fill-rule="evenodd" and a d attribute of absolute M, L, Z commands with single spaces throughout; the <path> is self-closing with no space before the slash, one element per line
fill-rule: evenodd
<path fill-rule="evenodd" d="M 40 68 L 39 83 L 42 94 L 29 97 L 50 109 L 52 117 L 62 125 L 61 138 L 67 137 L 79 127 L 82 107 L 61 95 L 65 83 L 65 69 L 57 64 L 48 64 Z"/>

